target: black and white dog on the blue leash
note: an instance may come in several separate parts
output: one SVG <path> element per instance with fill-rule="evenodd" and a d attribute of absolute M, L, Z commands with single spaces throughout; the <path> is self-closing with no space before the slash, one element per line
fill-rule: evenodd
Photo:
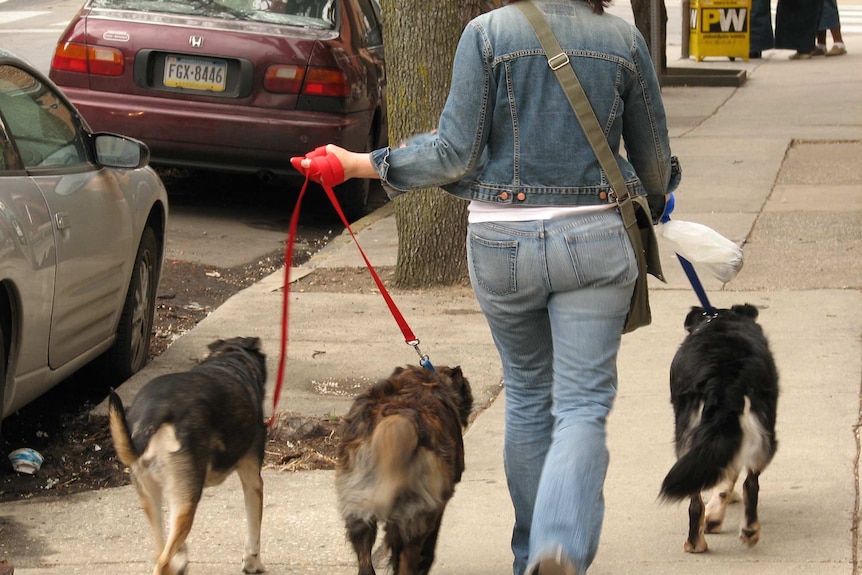
<path fill-rule="evenodd" d="M 749 546 L 760 538 L 759 477 L 778 446 L 778 371 L 757 316 L 749 304 L 718 310 L 714 317 L 692 308 L 685 319 L 689 333 L 671 363 L 678 460 L 664 478 L 661 497 L 691 499 L 684 546 L 690 553 L 708 550 L 705 531 L 721 531 L 743 469 L 739 537 Z M 701 491 L 711 487 L 704 508 Z"/>

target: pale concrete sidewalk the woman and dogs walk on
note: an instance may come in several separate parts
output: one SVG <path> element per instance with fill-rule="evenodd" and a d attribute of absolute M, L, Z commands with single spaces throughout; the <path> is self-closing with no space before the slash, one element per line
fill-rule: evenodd
<path fill-rule="evenodd" d="M 769 51 L 751 62 L 672 66 L 742 68 L 741 88 L 665 88 L 674 153 L 683 166 L 674 217 L 745 241 L 745 267 L 712 303 L 761 308 L 782 395 L 779 450 L 761 477 L 762 536 L 737 537 L 741 506 L 728 512 L 710 552 L 682 551 L 687 505 L 657 501 L 674 461 L 668 367 L 697 298 L 673 254 L 668 284 L 651 284 L 653 325 L 623 338 L 620 392 L 609 423 L 606 517 L 590 575 L 852 575 L 857 573 L 859 393 L 862 383 L 862 41 L 849 54 L 811 61 Z M 377 267 L 394 265 L 397 234 L 386 206 L 358 223 Z M 315 267 L 363 267 L 349 237 L 336 238 L 296 275 Z M 295 275 L 295 277 L 296 277 Z M 231 298 L 121 389 L 187 369 L 217 337 L 257 335 L 277 372 L 283 274 Z M 351 389 L 416 363 L 377 293 L 291 292 L 286 388 L 280 409 L 341 414 Z M 477 403 L 500 383 L 496 351 L 468 291 L 398 295 L 400 310 L 436 364 L 459 364 Z M 502 471 L 499 398 L 468 430 L 466 472 L 444 519 L 437 575 L 511 573 L 512 511 Z M 268 573 L 356 572 L 335 504 L 333 473 L 266 470 L 262 558 Z M 240 572 L 244 533 L 235 477 L 205 491 L 189 538 L 190 571 Z M 0 505 L 0 559 L 16 575 L 152 570 L 149 529 L 132 487 Z M 383 573 L 383 570 L 380 570 Z"/>

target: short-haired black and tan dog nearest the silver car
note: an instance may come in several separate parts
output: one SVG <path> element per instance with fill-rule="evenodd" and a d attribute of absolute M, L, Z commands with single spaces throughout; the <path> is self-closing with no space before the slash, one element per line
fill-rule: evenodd
<path fill-rule="evenodd" d="M 263 398 L 266 357 L 258 338 L 218 340 L 192 370 L 156 377 L 128 414 L 111 393 L 111 437 L 149 519 L 158 556 L 154 575 L 185 572 L 185 541 L 204 487 L 233 471 L 245 498 L 247 534 L 242 570 L 262 573 L 260 523 L 266 444 Z M 169 511 L 165 540 L 162 502 Z"/>

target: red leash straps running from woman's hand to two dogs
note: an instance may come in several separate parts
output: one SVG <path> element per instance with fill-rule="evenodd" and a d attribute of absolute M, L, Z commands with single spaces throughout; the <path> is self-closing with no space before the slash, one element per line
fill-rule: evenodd
<path fill-rule="evenodd" d="M 311 157 L 311 154 L 309 154 L 309 157 Z M 294 163 L 294 165 L 296 164 Z M 305 170 L 301 171 L 305 173 Z M 285 360 L 287 359 L 287 326 L 290 308 L 290 268 L 292 267 L 293 263 L 293 245 L 296 241 L 296 228 L 299 223 L 299 208 L 302 205 L 302 198 L 305 196 L 305 190 L 306 188 L 308 188 L 308 180 L 309 174 L 306 173 L 305 183 L 302 184 L 302 189 L 299 191 L 299 197 L 296 200 L 296 206 L 293 208 L 293 214 L 290 217 L 290 228 L 288 230 L 287 246 L 285 247 L 284 252 L 284 290 L 282 291 L 283 297 L 281 302 L 281 349 L 278 361 L 278 375 L 276 376 L 275 380 L 275 392 L 272 398 L 272 415 L 270 416 L 269 421 L 266 422 L 267 427 L 270 427 L 275 421 L 275 410 L 276 407 L 278 407 L 278 400 L 281 396 L 281 386 L 284 382 L 284 365 Z M 321 186 L 323 186 L 323 190 L 326 192 L 329 201 L 332 202 L 332 207 L 335 208 L 335 212 L 338 214 L 338 217 L 341 218 L 341 223 L 343 223 L 347 231 L 350 232 L 350 237 L 353 238 L 353 243 L 355 243 L 356 247 L 359 248 L 359 253 L 362 254 L 362 259 L 365 262 L 365 266 L 371 273 L 371 277 L 374 278 L 374 283 L 377 284 L 377 288 L 380 290 L 380 294 L 386 301 L 386 305 L 389 306 L 389 311 L 392 313 L 392 316 L 395 318 L 395 322 L 398 324 L 398 327 L 401 329 L 401 333 L 404 335 L 404 341 L 408 345 L 412 346 L 413 349 L 416 350 L 416 353 L 419 354 L 419 363 L 422 365 L 422 367 L 433 371 L 434 366 L 431 364 L 431 360 L 428 359 L 427 355 L 423 354 L 419 350 L 419 340 L 416 339 L 416 336 L 413 334 L 413 331 L 407 324 L 407 320 L 404 319 L 404 316 L 401 314 L 401 311 L 399 311 L 398 306 L 395 305 L 395 301 L 393 301 L 392 296 L 389 295 L 389 291 L 386 289 L 386 286 L 383 285 L 383 281 L 380 279 L 380 276 L 377 275 L 377 271 L 374 269 L 374 266 L 371 265 L 371 262 L 368 260 L 368 256 L 365 255 L 365 250 L 363 250 L 362 246 L 359 245 L 359 241 L 356 239 L 356 235 L 350 228 L 350 223 L 347 221 L 347 217 L 344 215 L 344 211 L 341 209 L 341 204 L 338 203 L 338 199 L 335 197 L 335 191 L 332 189 L 332 186 L 323 183 L 323 181 L 320 181 L 320 184 Z"/>

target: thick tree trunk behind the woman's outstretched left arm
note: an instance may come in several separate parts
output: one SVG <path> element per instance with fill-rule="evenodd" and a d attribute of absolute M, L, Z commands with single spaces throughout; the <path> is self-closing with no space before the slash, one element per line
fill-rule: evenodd
<path fill-rule="evenodd" d="M 437 126 L 466 22 L 501 0 L 381 0 L 386 49 L 389 142 Z M 399 287 L 452 285 L 467 278 L 467 203 L 439 188 L 395 201 Z"/>

